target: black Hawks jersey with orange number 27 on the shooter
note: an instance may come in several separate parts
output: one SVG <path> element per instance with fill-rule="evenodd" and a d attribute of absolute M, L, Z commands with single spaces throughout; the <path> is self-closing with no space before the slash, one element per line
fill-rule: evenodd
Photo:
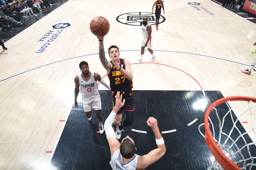
<path fill-rule="evenodd" d="M 124 59 L 119 58 L 119 60 L 121 67 L 125 69 Z M 131 90 L 133 88 L 132 81 L 128 80 L 121 71 L 117 70 L 112 61 L 110 63 L 112 64 L 112 69 L 108 74 L 108 79 L 110 81 L 111 91 L 116 93 L 117 91 Z"/>

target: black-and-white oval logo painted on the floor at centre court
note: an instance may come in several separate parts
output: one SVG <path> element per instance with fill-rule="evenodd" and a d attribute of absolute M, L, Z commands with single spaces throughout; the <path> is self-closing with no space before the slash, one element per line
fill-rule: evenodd
<path fill-rule="evenodd" d="M 116 20 L 125 25 L 142 26 L 143 17 L 148 17 L 150 25 L 156 25 L 155 14 L 150 12 L 129 12 L 116 17 Z M 159 24 L 165 21 L 164 16 L 160 16 Z"/>

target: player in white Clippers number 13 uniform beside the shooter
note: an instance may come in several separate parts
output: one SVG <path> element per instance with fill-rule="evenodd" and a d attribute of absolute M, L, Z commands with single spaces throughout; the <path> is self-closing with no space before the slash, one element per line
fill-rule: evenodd
<path fill-rule="evenodd" d="M 79 64 L 81 74 L 76 75 L 75 77 L 75 106 L 78 107 L 77 104 L 77 96 L 79 94 L 79 87 L 82 93 L 82 102 L 84 107 L 85 116 L 88 120 L 92 119 L 92 108 L 95 111 L 96 116 L 99 120 L 99 131 L 100 134 L 104 132 L 103 124 L 102 124 L 102 115 L 101 115 L 101 100 L 99 94 L 99 88 L 97 81 L 99 81 L 102 85 L 104 85 L 107 89 L 110 90 L 109 85 L 100 77 L 100 74 L 93 73 L 89 71 L 88 63 L 82 61 Z"/>

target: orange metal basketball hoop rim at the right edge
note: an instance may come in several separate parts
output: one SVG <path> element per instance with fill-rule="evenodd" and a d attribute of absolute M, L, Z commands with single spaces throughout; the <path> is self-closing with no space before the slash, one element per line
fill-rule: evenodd
<path fill-rule="evenodd" d="M 208 125 L 208 117 L 210 112 L 212 111 L 213 107 L 216 107 L 217 105 L 221 103 L 225 103 L 227 101 L 252 101 L 256 103 L 255 97 L 246 97 L 246 96 L 231 96 L 231 97 L 224 97 L 216 100 L 213 102 L 208 109 L 205 112 L 204 115 L 204 128 L 205 128 L 205 142 L 207 143 L 209 150 L 212 152 L 212 155 L 215 157 L 215 159 L 219 162 L 219 164 L 225 169 L 225 170 L 239 170 L 240 168 L 232 162 L 224 153 L 221 151 L 220 147 L 217 145 L 217 143 L 214 141 L 214 138 L 212 136 L 212 133 L 210 131 L 209 125 Z"/>

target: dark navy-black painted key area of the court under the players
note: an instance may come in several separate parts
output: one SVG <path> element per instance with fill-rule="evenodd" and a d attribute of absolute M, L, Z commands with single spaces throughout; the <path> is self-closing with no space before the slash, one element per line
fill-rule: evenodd
<path fill-rule="evenodd" d="M 112 99 L 108 90 L 100 90 L 100 95 L 104 122 L 112 111 Z M 202 109 L 205 103 L 207 109 L 212 102 L 222 98 L 220 91 L 205 91 L 204 96 L 202 91 L 135 90 L 134 97 L 134 121 L 132 126 L 125 128 L 120 142 L 129 135 L 136 144 L 136 153 L 144 155 L 156 148 L 154 133 L 146 123 L 148 117 L 158 120 L 161 132 L 176 129 L 175 132 L 162 134 L 166 153 L 147 170 L 207 169 L 211 165 L 214 159 L 204 137 L 198 132 L 198 126 L 204 120 L 205 111 Z M 198 120 L 188 126 L 195 119 Z M 232 127 L 231 123 L 230 120 L 226 125 Z M 238 126 L 242 128 L 241 124 Z M 147 134 L 132 129 L 147 131 Z M 111 169 L 106 135 L 97 131 L 99 122 L 95 113 L 89 121 L 84 115 L 82 103 L 78 108 L 73 105 L 51 160 L 52 169 Z"/>

